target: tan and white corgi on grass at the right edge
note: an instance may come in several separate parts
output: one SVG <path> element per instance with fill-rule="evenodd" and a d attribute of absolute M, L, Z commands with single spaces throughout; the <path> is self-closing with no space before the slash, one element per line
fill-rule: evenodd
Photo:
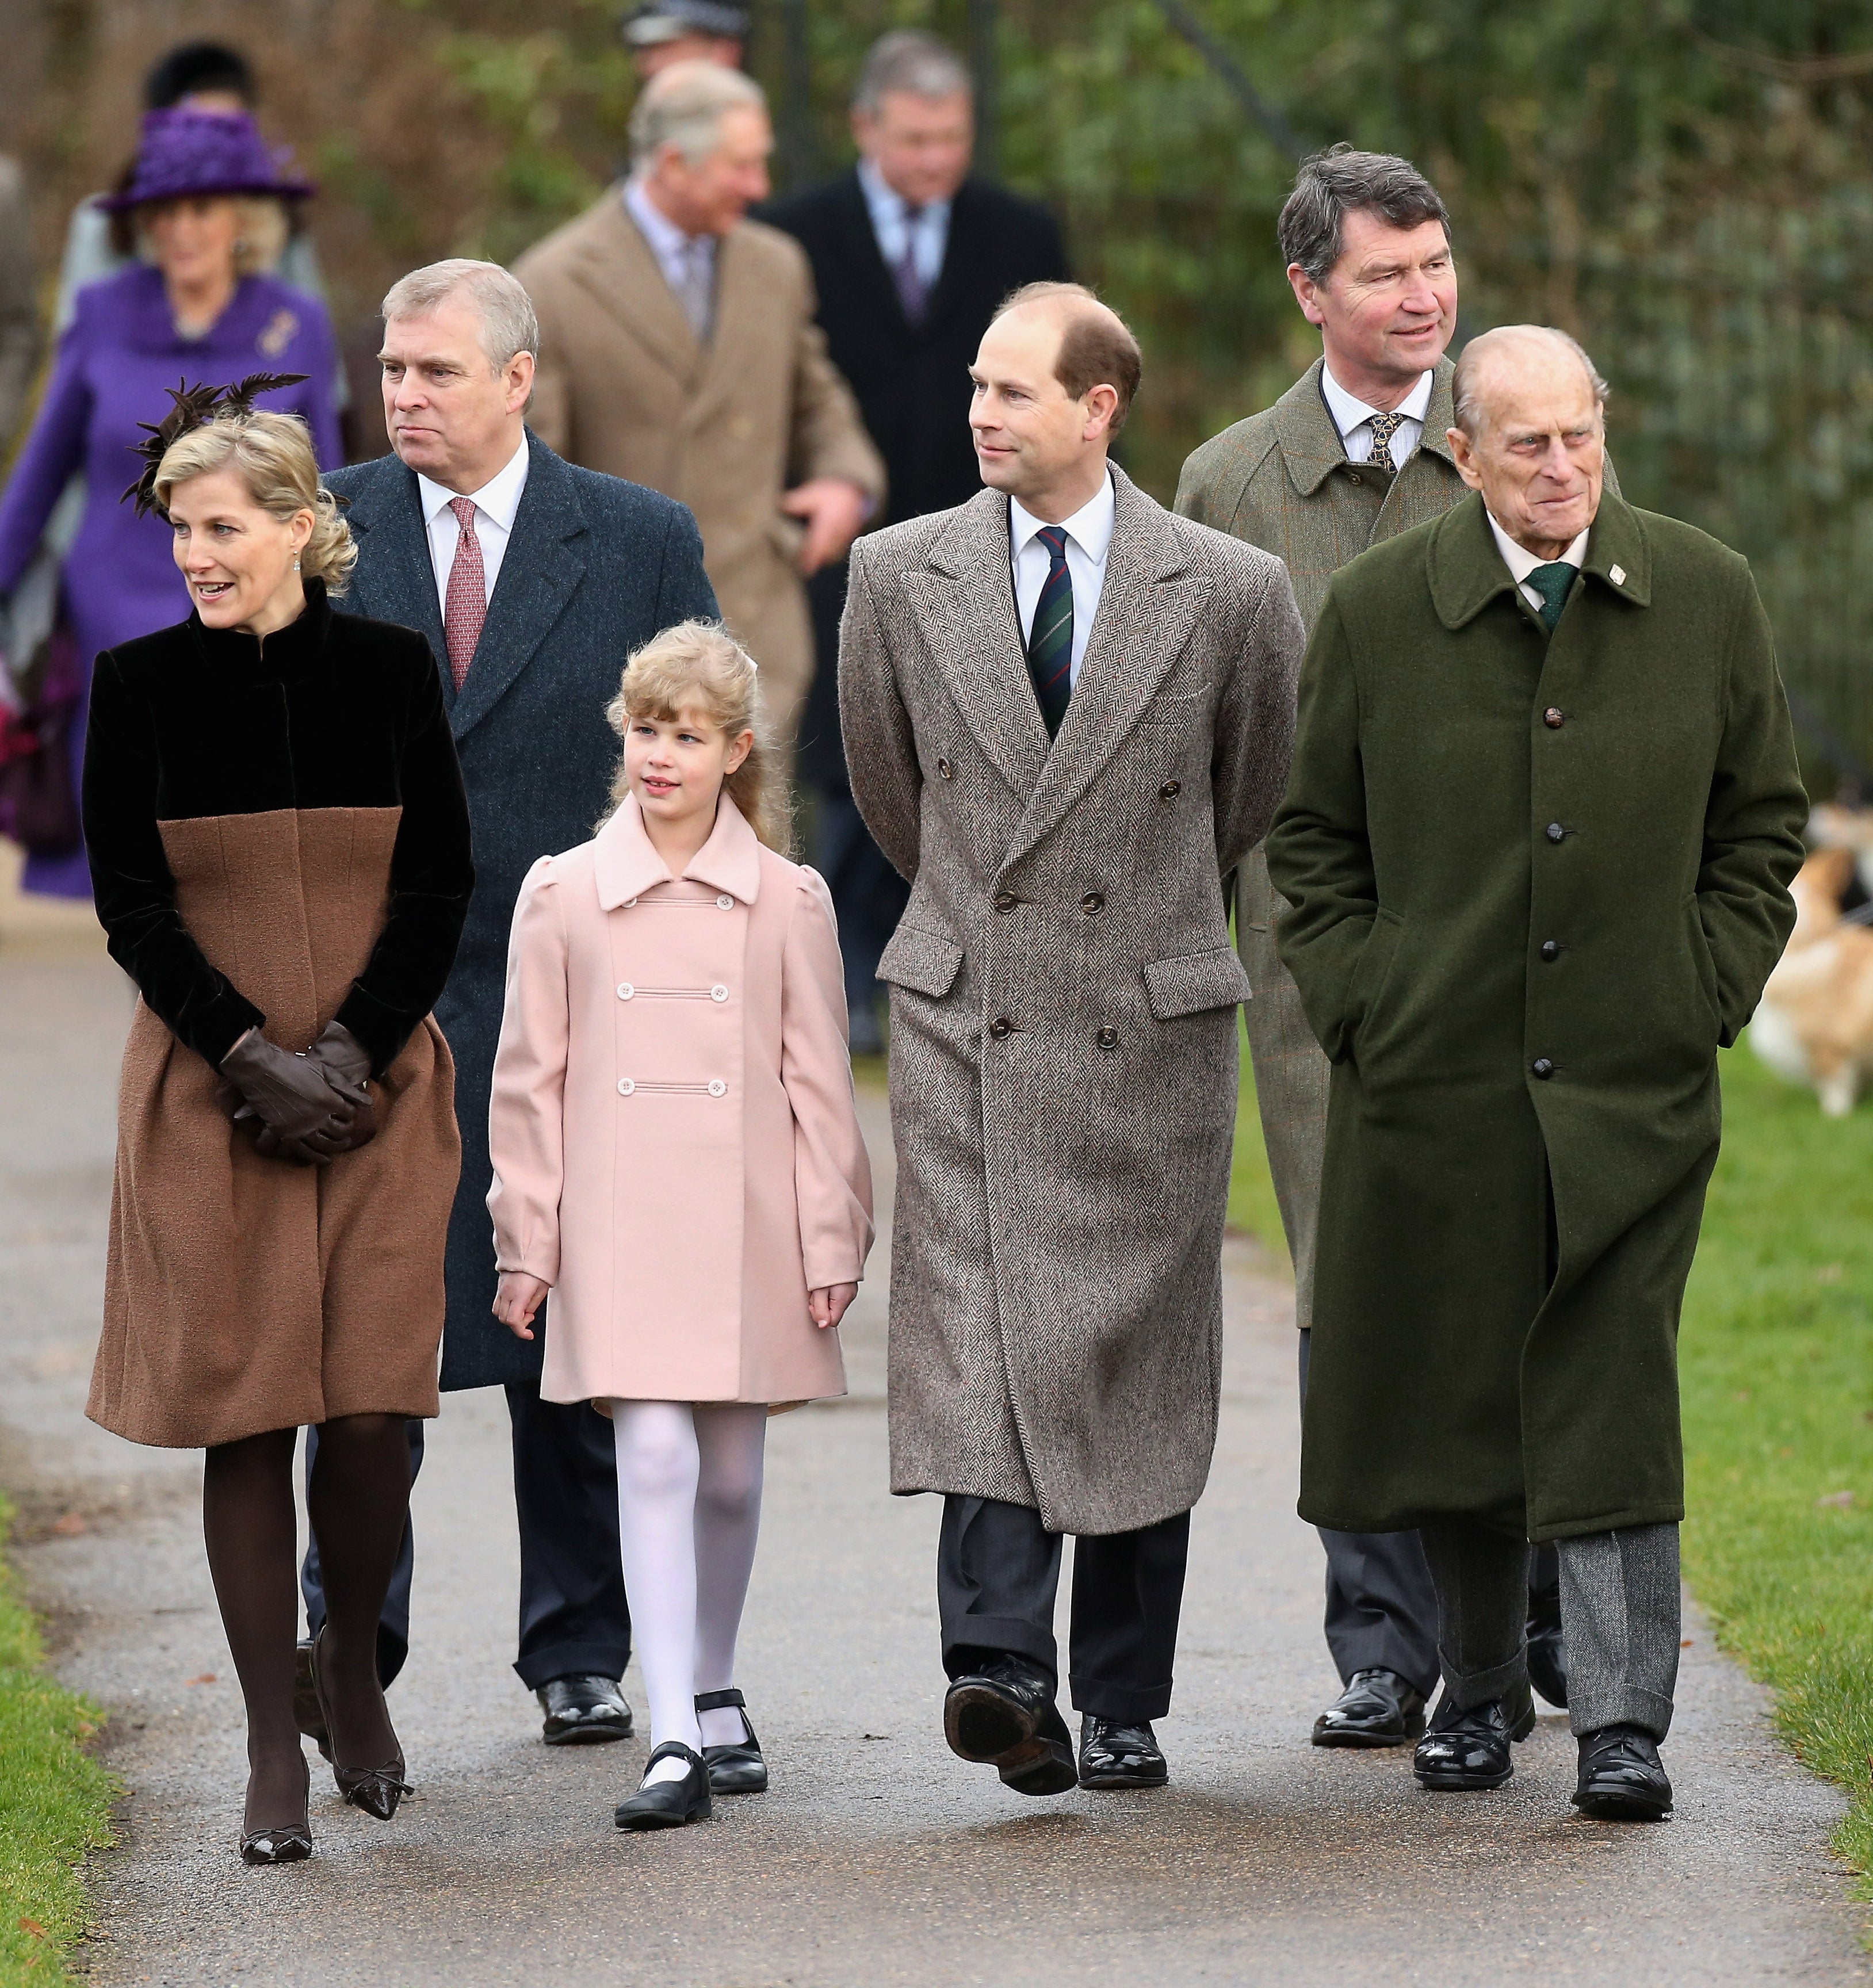
<path fill-rule="evenodd" d="M 1841 918 L 1855 849 L 1817 849 L 1789 895 L 1795 930 L 1762 990 L 1750 1048 L 1791 1083 L 1807 1083 L 1829 1117 L 1845 1117 L 1873 1079 L 1873 930 Z"/>

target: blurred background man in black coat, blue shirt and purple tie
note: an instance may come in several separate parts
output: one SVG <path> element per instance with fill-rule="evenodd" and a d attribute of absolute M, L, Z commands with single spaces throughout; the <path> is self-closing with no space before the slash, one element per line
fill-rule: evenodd
<path fill-rule="evenodd" d="M 859 163 L 789 195 L 764 219 L 805 248 L 833 364 L 891 473 L 873 525 L 948 511 L 980 489 L 968 433 L 968 368 L 988 320 L 1024 282 L 1068 274 L 1054 217 L 968 171 L 968 70 L 929 34 L 887 34 L 853 97 Z M 815 865 L 831 885 L 845 946 L 853 1050 L 881 1048 L 877 964 L 903 911 L 903 883 L 851 799 L 839 740 L 839 614 L 845 561 L 807 588 L 819 670 L 799 732 L 799 771 L 819 789 Z"/>

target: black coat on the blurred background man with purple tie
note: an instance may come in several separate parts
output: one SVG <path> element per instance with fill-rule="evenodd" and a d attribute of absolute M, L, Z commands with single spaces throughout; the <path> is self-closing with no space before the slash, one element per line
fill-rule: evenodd
<path fill-rule="evenodd" d="M 1024 282 L 1068 276 L 1054 217 L 986 179 L 964 179 L 950 207 L 942 274 L 931 310 L 911 328 L 879 252 L 857 167 L 762 211 L 813 264 L 819 326 L 833 364 L 859 396 L 859 412 L 891 471 L 887 509 L 873 525 L 950 511 L 982 487 L 968 435 L 968 368 L 996 304 Z M 845 783 L 833 658 L 845 565 L 813 577 L 819 672 L 799 728 L 799 767 L 821 785 Z"/>

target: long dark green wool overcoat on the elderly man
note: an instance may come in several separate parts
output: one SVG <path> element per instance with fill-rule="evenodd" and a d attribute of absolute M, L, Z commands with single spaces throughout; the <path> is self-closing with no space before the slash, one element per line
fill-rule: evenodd
<path fill-rule="evenodd" d="M 1334 1064 L 1300 1517 L 1684 1515 L 1720 1044 L 1807 801 L 1748 565 L 1607 495 L 1549 636 L 1479 497 L 1340 571 L 1269 873 Z"/>

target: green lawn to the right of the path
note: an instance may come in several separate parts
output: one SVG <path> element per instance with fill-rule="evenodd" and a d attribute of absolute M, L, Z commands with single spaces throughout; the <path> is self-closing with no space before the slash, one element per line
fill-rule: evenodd
<path fill-rule="evenodd" d="M 1748 1048 L 1722 1064 L 1678 1340 L 1684 1571 L 1784 1740 L 1847 1789 L 1833 1847 L 1873 1899 L 1873 1099 L 1825 1119 Z M 1229 1219 L 1286 1258 L 1247 1044 Z"/>

